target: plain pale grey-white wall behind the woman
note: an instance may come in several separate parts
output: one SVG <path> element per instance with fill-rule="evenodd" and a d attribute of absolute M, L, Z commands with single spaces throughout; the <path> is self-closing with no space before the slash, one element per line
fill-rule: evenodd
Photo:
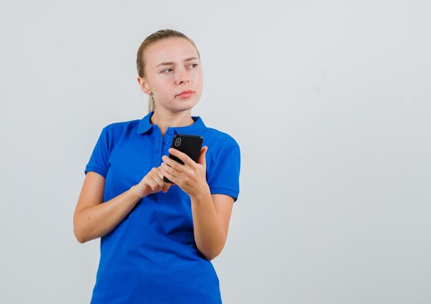
<path fill-rule="evenodd" d="M 431 303 L 430 1 L 0 1 L 0 302 L 89 303 L 72 217 L 136 51 L 196 42 L 193 115 L 241 147 L 229 303 Z"/>

